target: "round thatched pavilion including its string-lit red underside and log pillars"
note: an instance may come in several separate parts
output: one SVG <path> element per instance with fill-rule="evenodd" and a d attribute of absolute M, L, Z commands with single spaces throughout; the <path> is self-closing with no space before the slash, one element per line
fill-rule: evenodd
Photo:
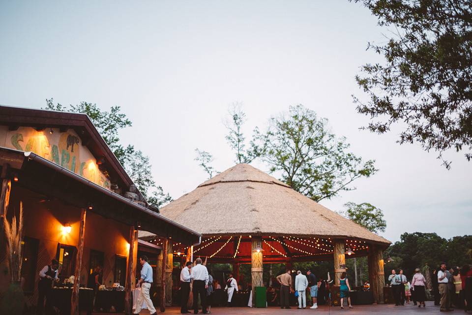
<path fill-rule="evenodd" d="M 338 274 L 345 252 L 375 256 L 379 265 L 382 251 L 390 245 L 248 164 L 218 174 L 160 213 L 202 234 L 194 255 L 208 257 L 209 262 L 252 263 L 253 284 L 255 270 L 262 274 L 262 262 L 334 259 Z M 141 238 L 160 242 L 153 235 Z M 176 254 L 186 252 L 179 246 L 174 245 Z M 383 267 L 377 267 L 376 274 L 383 273 Z"/>

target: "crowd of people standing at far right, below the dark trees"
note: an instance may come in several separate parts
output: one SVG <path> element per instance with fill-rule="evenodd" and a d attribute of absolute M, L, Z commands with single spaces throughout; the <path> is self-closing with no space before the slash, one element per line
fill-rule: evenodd
<path fill-rule="evenodd" d="M 468 306 L 465 296 L 468 277 L 472 277 L 472 269 L 469 265 L 447 269 L 446 263 L 442 262 L 439 269 L 433 270 L 431 293 L 434 295 L 435 305 L 440 306 L 441 312 L 453 311 L 454 307 L 464 306 L 466 310 L 472 307 L 472 305 Z M 418 308 L 426 307 L 428 285 L 426 277 L 419 268 L 414 270 L 411 282 L 403 274 L 402 269 L 398 270 L 398 273 L 392 269 L 388 281 L 396 306 L 404 306 L 405 302 L 409 304 L 412 300 Z"/>

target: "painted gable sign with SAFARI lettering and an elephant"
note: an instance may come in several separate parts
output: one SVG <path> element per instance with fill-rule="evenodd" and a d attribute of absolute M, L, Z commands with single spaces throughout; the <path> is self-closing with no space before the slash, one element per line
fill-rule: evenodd
<path fill-rule="evenodd" d="M 99 170 L 96 158 L 87 147 L 82 146 L 81 139 L 72 130 L 59 132 L 59 129 L 46 128 L 36 131 L 31 127 L 20 127 L 12 131 L 7 126 L 0 126 L 0 146 L 33 152 L 90 182 L 110 189 L 109 178 Z"/>

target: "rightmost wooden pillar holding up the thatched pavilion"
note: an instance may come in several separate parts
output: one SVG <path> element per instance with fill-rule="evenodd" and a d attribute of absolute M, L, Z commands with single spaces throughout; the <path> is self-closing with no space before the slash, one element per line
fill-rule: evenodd
<path fill-rule="evenodd" d="M 370 290 L 374 295 L 374 303 L 383 304 L 383 287 L 385 276 L 383 273 L 383 252 L 380 248 L 372 246 L 367 256 L 369 266 Z"/>

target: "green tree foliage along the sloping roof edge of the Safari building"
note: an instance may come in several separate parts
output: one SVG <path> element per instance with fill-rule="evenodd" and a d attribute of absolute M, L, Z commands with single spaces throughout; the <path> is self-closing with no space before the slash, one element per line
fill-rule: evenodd
<path fill-rule="evenodd" d="M 159 208 L 172 201 L 169 193 L 165 193 L 161 186 L 156 186 L 149 157 L 141 150 L 136 150 L 134 145 L 123 146 L 119 143 L 118 131 L 132 126 L 119 106 L 112 106 L 110 111 L 105 111 L 95 103 L 84 101 L 77 105 L 64 106 L 60 103 L 54 104 L 53 98 L 50 98 L 46 99 L 44 109 L 87 114 L 148 203 Z"/>

